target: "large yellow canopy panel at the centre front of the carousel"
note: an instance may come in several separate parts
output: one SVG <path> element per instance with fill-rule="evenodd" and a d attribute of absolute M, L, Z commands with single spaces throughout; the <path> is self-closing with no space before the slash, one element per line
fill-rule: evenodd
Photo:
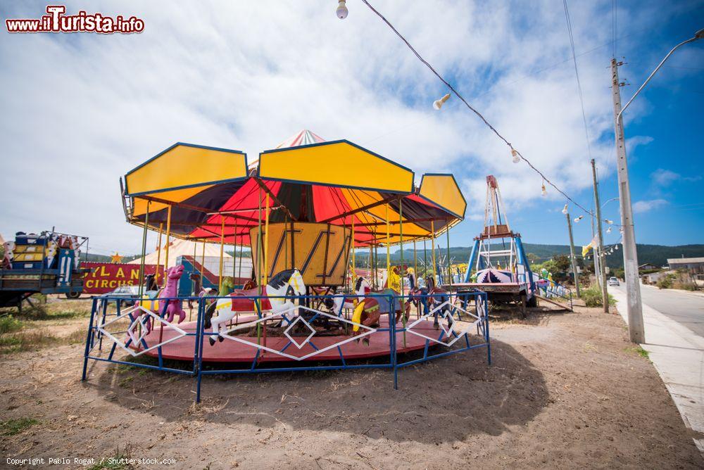
<path fill-rule="evenodd" d="M 392 193 L 413 191 L 413 171 L 346 140 L 265 151 L 259 155 L 259 177 Z"/>

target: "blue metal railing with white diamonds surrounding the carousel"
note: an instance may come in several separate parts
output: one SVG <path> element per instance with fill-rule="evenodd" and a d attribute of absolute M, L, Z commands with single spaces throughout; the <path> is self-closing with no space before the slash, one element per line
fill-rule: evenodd
<path fill-rule="evenodd" d="M 153 305 L 154 300 L 158 300 L 158 312 L 153 312 L 143 305 L 125 307 L 123 305 L 125 298 L 96 297 L 92 299 L 82 380 L 85 381 L 88 378 L 89 361 L 96 361 L 193 376 L 196 379 L 196 402 L 201 400 L 203 376 L 213 374 L 391 369 L 394 374 L 394 388 L 398 388 L 398 369 L 439 357 L 486 347 L 487 361 L 491 364 L 486 293 L 477 291 L 464 295 L 467 296 L 467 300 L 474 300 L 473 306 L 470 302 L 456 305 L 457 303 L 451 302 L 451 296 L 446 294 L 400 296 L 370 293 L 365 296 L 365 299 L 377 300 L 379 304 L 387 303 L 387 310 L 389 310 L 380 315 L 379 321 L 374 324 L 363 324 L 360 319 L 353 320 L 351 311 L 344 309 L 344 302 L 339 303 L 341 306 L 337 311 L 330 309 L 325 311 L 323 307 L 317 309 L 310 307 L 315 305 L 315 300 L 328 300 L 329 303 L 329 300 L 335 298 L 350 299 L 350 296 L 342 295 L 207 296 L 145 300 L 147 307 Z M 224 329 L 221 329 L 219 324 L 213 327 L 212 318 L 209 317 L 213 315 L 212 310 L 216 312 L 219 310 L 218 300 L 233 298 L 239 301 L 250 301 L 253 305 L 253 310 L 241 312 L 241 315 L 246 315 L 246 321 L 240 323 L 238 317 L 234 326 L 230 322 L 230 325 Z M 263 310 L 263 303 L 269 303 L 274 299 L 282 300 L 284 306 L 277 307 L 276 311 Z M 175 319 L 169 321 L 168 303 L 173 300 L 181 303 L 190 300 L 197 303 L 195 321 L 191 320 L 181 325 L 177 324 Z M 401 319 L 396 322 L 396 306 L 401 305 L 403 312 L 406 310 L 408 300 L 422 301 L 424 305 L 430 305 L 430 307 L 423 309 L 423 312 L 418 311 L 413 319 L 410 315 L 406 317 L 402 314 Z M 213 303 L 216 304 L 215 307 L 212 307 Z M 208 310 L 210 310 L 209 315 Z M 454 316 L 459 317 L 460 313 L 470 321 L 460 324 L 454 319 Z M 218 319 L 220 319 L 219 315 Z M 217 331 L 207 331 L 207 322 L 210 322 L 209 329 L 216 328 Z M 321 335 L 321 331 L 315 329 L 316 322 L 318 324 L 337 322 L 339 334 Z M 429 322 L 433 322 L 433 325 L 430 326 Z M 282 336 L 267 338 L 267 327 L 270 324 L 278 324 L 282 330 Z M 298 331 L 294 332 L 295 328 Z M 310 330 L 310 334 L 301 335 L 300 331 L 306 331 L 306 329 Z M 253 331 L 257 332 L 256 337 L 251 336 Z M 475 331 L 476 336 L 474 336 Z M 239 356 L 240 362 L 230 362 L 230 364 L 237 364 L 237 367 L 218 368 L 210 364 L 204 367 L 203 362 L 209 362 L 213 358 L 220 362 L 228 360 L 228 357 L 217 357 L 219 350 L 215 348 L 206 354 L 204 349 L 206 338 L 208 343 L 210 338 L 217 338 L 220 342 L 234 341 L 239 343 L 237 348 L 240 351 L 248 351 L 251 348 L 251 360 L 241 362 L 243 359 Z M 346 357 L 344 349 L 358 347 L 349 343 L 360 340 L 372 340 L 377 346 L 381 343 L 384 346 L 384 352 L 370 355 L 369 357 L 375 358 L 372 362 L 365 363 L 358 360 L 351 362 Z M 103 342 L 108 343 L 104 350 Z M 185 364 L 183 368 L 178 368 L 171 362 L 166 365 L 167 361 L 175 357 L 171 350 L 175 345 L 180 351 L 184 351 L 184 346 L 188 347 L 188 345 L 190 345 L 188 350 L 192 350 L 192 354 L 184 355 L 182 352 L 178 356 L 180 364 Z M 443 350 L 438 351 L 438 348 Z M 118 354 L 118 350 L 124 354 Z M 399 353 L 405 352 L 413 352 L 414 355 L 403 355 L 399 361 Z M 134 362 L 125 358 L 125 354 L 132 358 L 146 355 L 150 359 Z M 287 362 L 290 365 L 277 364 L 278 362 Z"/>

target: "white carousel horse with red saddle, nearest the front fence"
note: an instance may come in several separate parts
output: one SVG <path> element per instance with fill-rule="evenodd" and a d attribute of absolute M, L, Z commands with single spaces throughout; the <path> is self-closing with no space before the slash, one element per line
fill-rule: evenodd
<path fill-rule="evenodd" d="M 272 277 L 266 286 L 263 286 L 259 300 L 260 312 L 277 314 L 288 310 L 294 305 L 291 301 L 291 296 L 305 296 L 306 285 L 303 284 L 303 277 L 298 269 L 286 269 Z M 212 326 L 213 333 L 218 334 L 218 341 L 224 338 L 220 332 L 220 328 L 225 326 L 227 322 L 239 312 L 256 312 L 258 309 L 255 305 L 253 296 L 259 296 L 258 288 L 250 289 L 235 289 L 230 293 L 228 298 L 219 298 L 217 302 L 210 304 L 206 310 L 206 318 L 203 323 L 203 328 Z M 217 316 L 213 315 L 217 312 Z M 210 345 L 215 345 L 213 336 L 208 338 Z"/>

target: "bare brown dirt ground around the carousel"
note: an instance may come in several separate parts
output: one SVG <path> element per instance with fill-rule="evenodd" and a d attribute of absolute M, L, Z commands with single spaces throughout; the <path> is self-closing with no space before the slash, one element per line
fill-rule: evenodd
<path fill-rule="evenodd" d="M 97 363 L 81 383 L 80 344 L 6 355 L 0 420 L 36 422 L 1 439 L 0 466 L 127 455 L 190 469 L 702 468 L 653 365 L 598 310 L 494 321 L 491 366 L 484 349 L 452 355 L 403 369 L 398 390 L 385 370 L 210 376 L 201 405 L 187 376 Z"/>

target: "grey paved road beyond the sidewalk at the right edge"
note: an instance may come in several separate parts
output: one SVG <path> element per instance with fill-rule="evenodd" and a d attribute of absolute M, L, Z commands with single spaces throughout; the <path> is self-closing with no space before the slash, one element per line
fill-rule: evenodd
<path fill-rule="evenodd" d="M 626 292 L 626 286 L 616 287 Z M 704 296 L 641 285 L 643 303 L 704 338 Z"/>

